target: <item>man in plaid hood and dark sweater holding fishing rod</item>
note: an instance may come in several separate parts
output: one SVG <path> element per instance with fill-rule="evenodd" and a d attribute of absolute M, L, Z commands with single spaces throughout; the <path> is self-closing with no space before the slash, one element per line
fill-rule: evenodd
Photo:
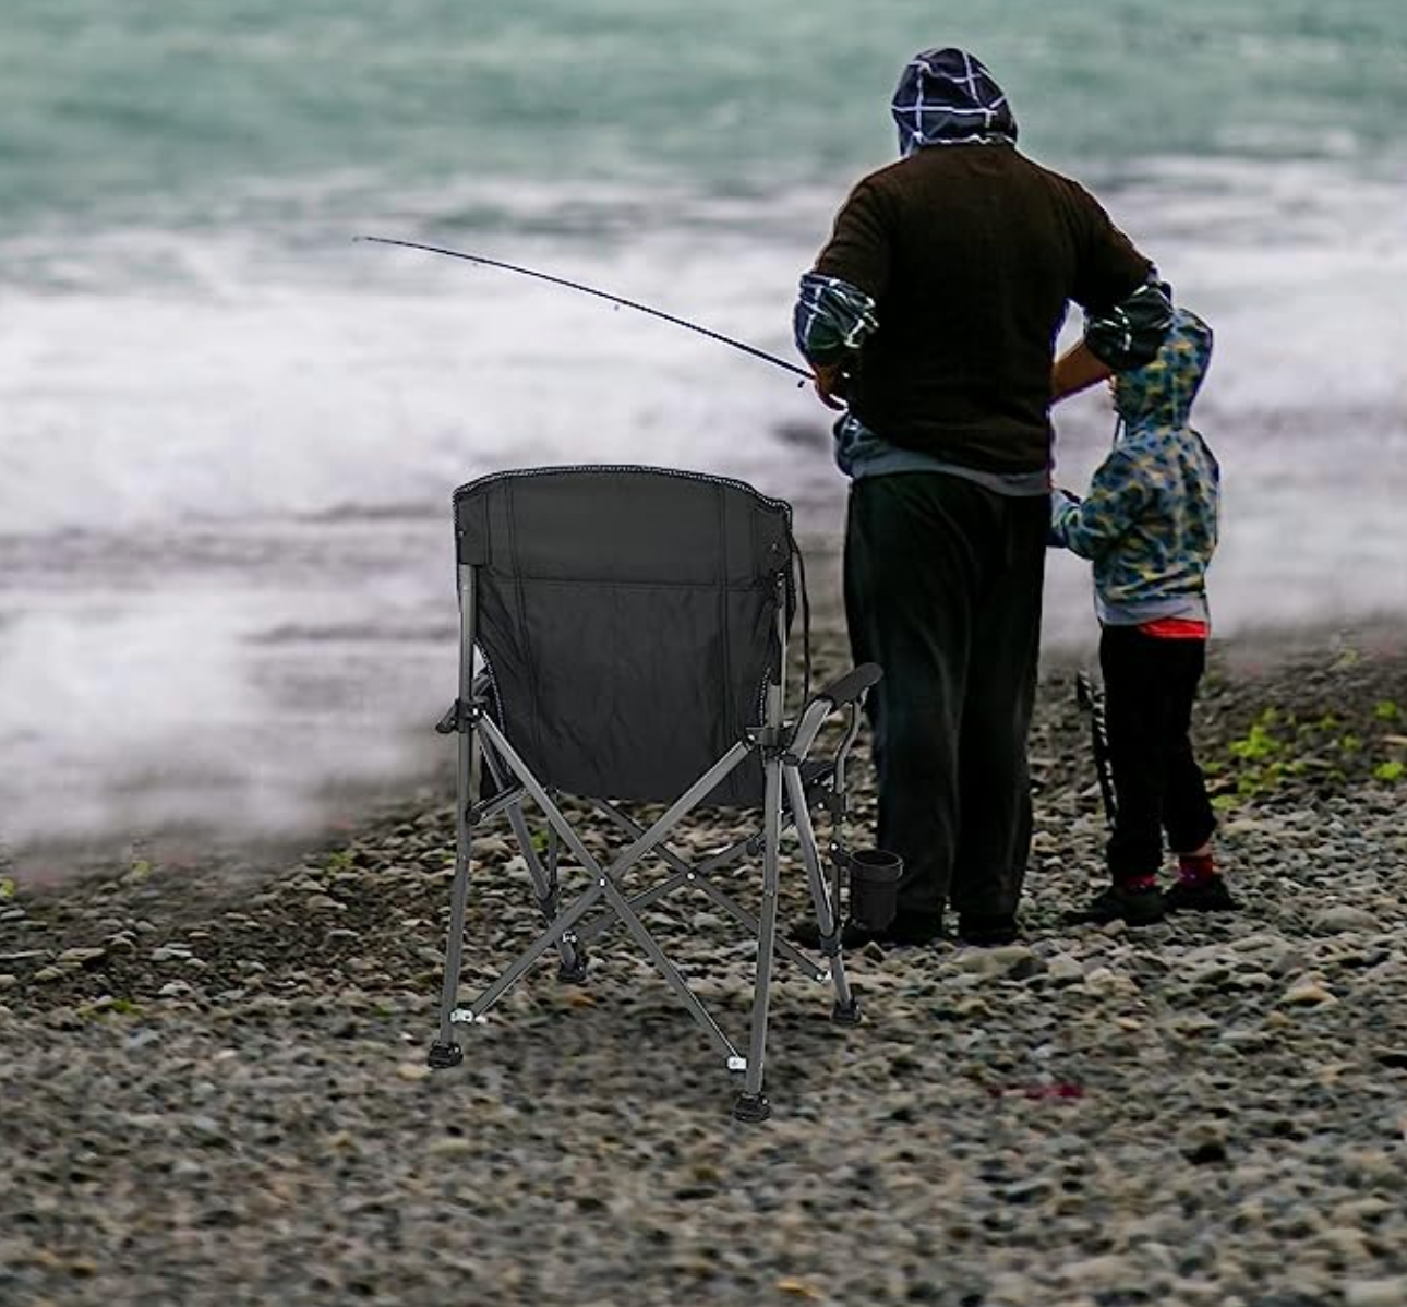
<path fill-rule="evenodd" d="M 1050 521 L 1050 405 L 1154 357 L 1154 266 L 1075 181 L 1016 149 L 1006 96 L 958 49 L 893 97 L 902 159 L 851 191 L 802 277 L 796 345 L 853 478 L 844 591 L 898 916 L 844 947 L 1017 936 L 1030 848 L 1026 740 Z M 1054 362 L 1071 301 L 1082 340 Z M 834 947 L 834 938 L 817 941 Z"/>

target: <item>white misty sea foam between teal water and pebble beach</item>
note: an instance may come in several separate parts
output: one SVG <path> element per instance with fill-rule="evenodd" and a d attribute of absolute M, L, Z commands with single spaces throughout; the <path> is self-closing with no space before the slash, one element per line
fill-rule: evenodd
<path fill-rule="evenodd" d="M 791 359 L 795 280 L 840 189 L 680 191 L 663 217 L 604 189 L 573 227 L 560 194 L 501 184 L 490 232 L 464 239 Z M 1389 189 L 1337 165 L 1182 162 L 1106 200 L 1217 329 L 1197 421 L 1225 474 L 1218 630 L 1407 615 Z M 407 732 L 454 684 L 449 494 L 474 476 L 696 467 L 839 529 L 830 415 L 794 377 L 561 288 L 352 243 L 457 243 L 446 208 L 404 208 L 408 229 L 10 243 L 0 839 L 290 826 L 329 784 L 422 765 Z M 1089 395 L 1058 422 L 1081 485 L 1110 415 Z M 1052 559 L 1048 639 L 1092 632 L 1083 566 Z"/>

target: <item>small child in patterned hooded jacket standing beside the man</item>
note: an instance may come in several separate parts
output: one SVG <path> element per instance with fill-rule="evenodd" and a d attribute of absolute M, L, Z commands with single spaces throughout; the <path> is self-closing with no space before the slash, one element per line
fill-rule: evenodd
<path fill-rule="evenodd" d="M 1110 380 L 1119 429 L 1083 501 L 1057 490 L 1051 543 L 1095 563 L 1116 816 L 1112 884 L 1082 922 L 1148 926 L 1171 909 L 1234 909 L 1211 855 L 1216 816 L 1192 753 L 1192 702 L 1206 665 L 1207 564 L 1217 544 L 1220 470 L 1190 426 L 1211 329 L 1176 310 L 1145 367 Z M 1158 889 L 1162 833 L 1178 884 Z"/>

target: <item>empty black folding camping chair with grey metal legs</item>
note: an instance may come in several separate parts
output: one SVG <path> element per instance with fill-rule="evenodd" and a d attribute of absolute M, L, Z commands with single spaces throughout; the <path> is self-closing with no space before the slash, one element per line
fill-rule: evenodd
<path fill-rule="evenodd" d="M 851 855 L 840 840 L 846 757 L 879 668 L 858 667 L 810 695 L 794 719 L 784 715 L 799 553 L 791 506 L 741 481 L 649 467 L 528 468 L 461 485 L 453 509 L 459 698 L 438 729 L 459 734 L 457 857 L 431 1065 L 459 1064 L 457 1027 L 480 1020 L 545 954 L 556 952 L 561 979 L 585 981 L 587 945 L 623 923 L 727 1069 L 741 1073 L 734 1117 L 764 1120 L 774 955 L 813 979 L 829 974 L 832 1017 L 853 1024 L 860 1010 L 840 948 L 843 872 L 851 916 L 879 926 L 892 917 L 896 860 Z M 805 574 L 801 599 L 809 626 Z M 809 682 L 809 639 L 805 647 Z M 839 710 L 848 713 L 839 747 L 812 760 L 817 733 Z M 585 801 L 625 831 L 626 847 L 608 864 L 573 829 L 564 795 Z M 542 857 L 525 817 L 529 799 L 547 822 Z M 668 808 L 643 829 L 622 810 L 628 803 Z M 694 865 L 667 840 L 704 806 L 747 809 L 756 829 Z M 830 816 L 829 881 L 813 806 Z M 516 837 L 545 926 L 483 993 L 461 1003 L 471 841 L 498 813 L 507 815 Z M 819 962 L 777 933 L 778 850 L 789 830 L 801 846 L 820 931 Z M 585 881 L 566 903 L 563 847 Z M 715 876 L 758 854 L 761 899 L 754 914 Z M 664 862 L 667 875 L 628 892 L 622 874 L 650 857 Z M 746 1054 L 642 922 L 644 907 L 681 888 L 702 891 L 757 940 Z"/>

